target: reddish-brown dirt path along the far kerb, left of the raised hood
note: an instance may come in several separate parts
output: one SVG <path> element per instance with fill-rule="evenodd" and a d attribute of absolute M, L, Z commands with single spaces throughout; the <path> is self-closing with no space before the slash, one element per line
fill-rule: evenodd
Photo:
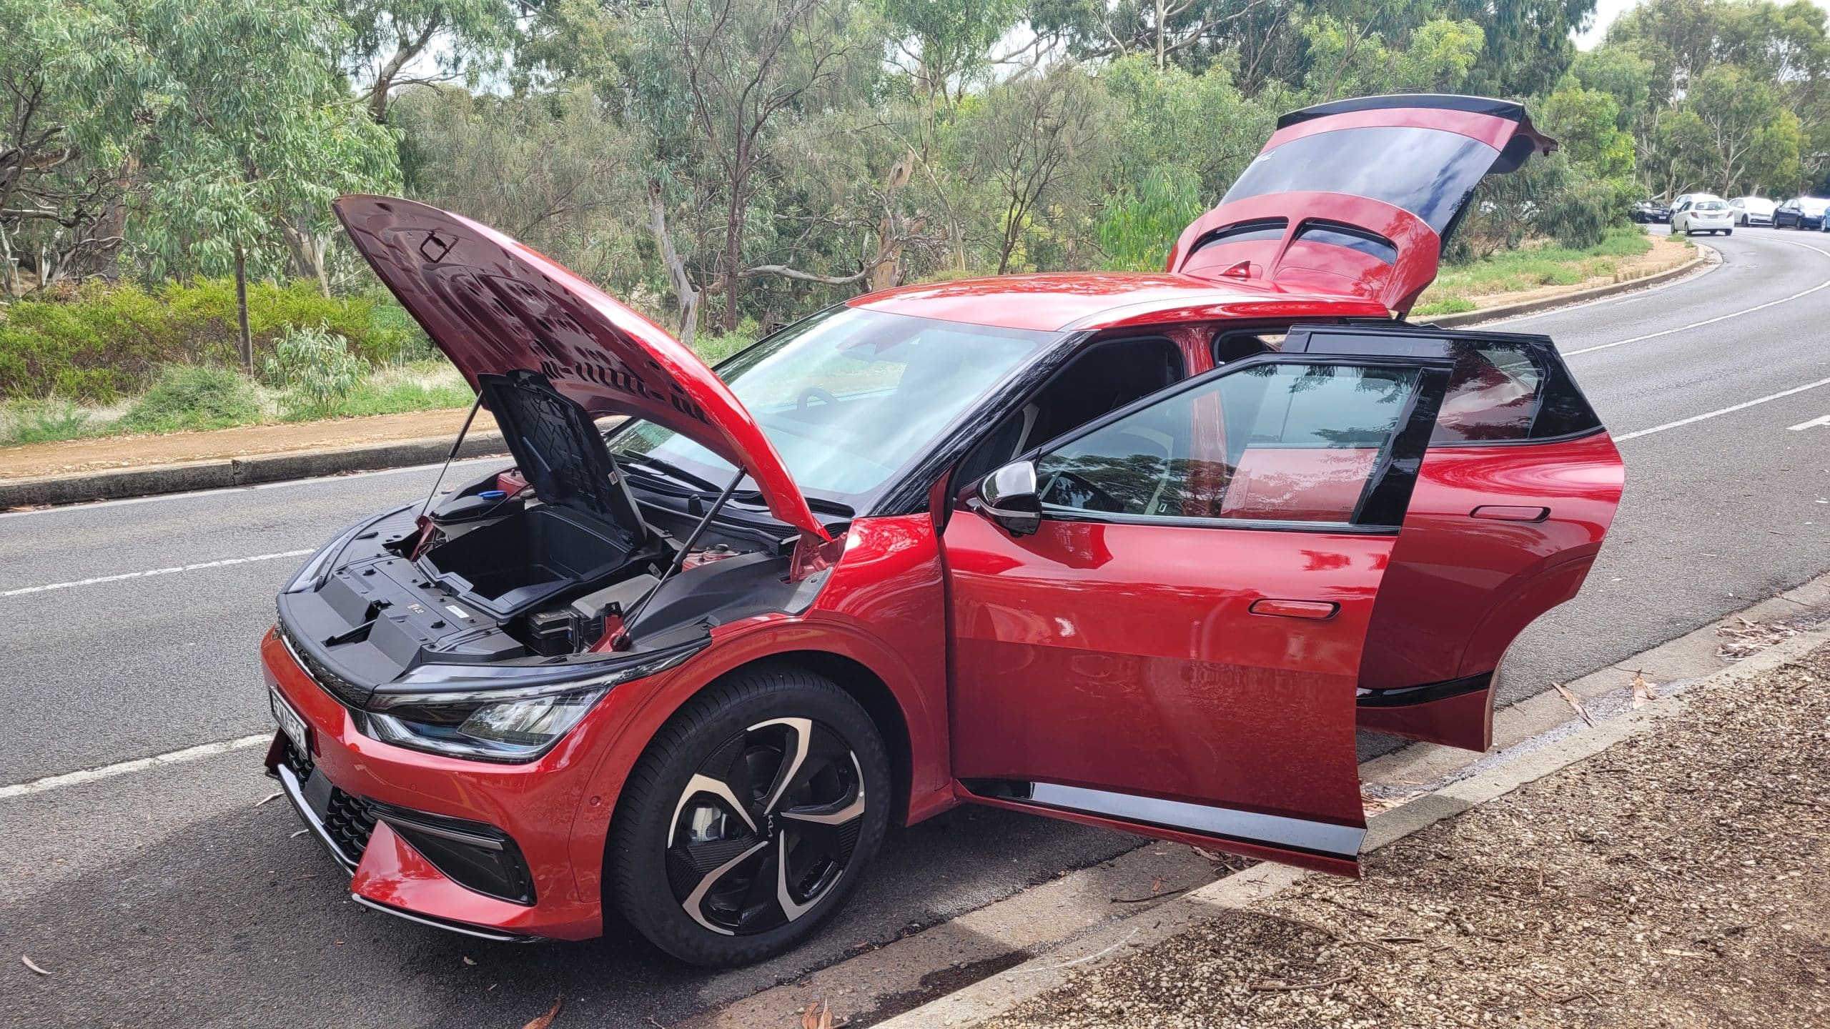
<path fill-rule="evenodd" d="M 450 439 L 463 425 L 465 408 L 375 414 L 287 425 L 243 425 L 214 432 L 168 432 L 163 436 L 101 436 L 64 443 L 0 447 L 0 478 L 60 476 L 141 465 L 176 465 L 278 454 L 284 450 L 320 450 L 399 439 Z M 489 412 L 478 412 L 472 432 L 496 428 Z"/>

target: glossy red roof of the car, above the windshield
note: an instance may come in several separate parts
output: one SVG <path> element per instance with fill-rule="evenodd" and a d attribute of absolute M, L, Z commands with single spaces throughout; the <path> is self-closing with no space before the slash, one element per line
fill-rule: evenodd
<path fill-rule="evenodd" d="M 1343 282 L 1343 287 L 1347 284 Z M 1103 330 L 1226 319 L 1389 319 L 1371 298 L 1292 293 L 1255 278 L 1093 271 L 997 275 L 882 289 L 853 308 L 1016 330 Z"/>

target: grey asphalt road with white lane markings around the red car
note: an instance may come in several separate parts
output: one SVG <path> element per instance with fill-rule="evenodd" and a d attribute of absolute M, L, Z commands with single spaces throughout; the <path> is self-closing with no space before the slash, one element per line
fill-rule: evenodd
<path fill-rule="evenodd" d="M 1559 341 L 1629 478 L 1581 597 L 1508 655 L 1504 699 L 1830 569 L 1830 425 L 1793 428 L 1830 416 L 1830 236 L 1711 245 L 1726 264 L 1702 278 L 1506 322 Z M 271 732 L 254 641 L 295 551 L 430 476 L 0 514 L 0 785 Z M 0 795 L 0 1024 L 500 1027 L 564 994 L 565 1025 L 670 1025 L 1136 842 L 953 811 L 893 833 L 796 954 L 705 974 L 624 936 L 489 945 L 364 912 L 284 802 L 256 806 L 258 762 Z"/>

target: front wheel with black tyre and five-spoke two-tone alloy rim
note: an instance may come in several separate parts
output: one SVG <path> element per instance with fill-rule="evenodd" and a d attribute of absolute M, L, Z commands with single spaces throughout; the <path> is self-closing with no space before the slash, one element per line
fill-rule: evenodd
<path fill-rule="evenodd" d="M 692 965 L 774 958 L 845 904 L 891 802 L 889 756 L 851 694 L 796 665 L 745 668 L 637 760 L 606 844 L 606 906 Z"/>

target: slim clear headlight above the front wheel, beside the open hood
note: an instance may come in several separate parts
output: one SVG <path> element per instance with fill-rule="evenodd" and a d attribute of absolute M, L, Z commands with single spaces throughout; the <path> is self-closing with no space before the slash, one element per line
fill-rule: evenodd
<path fill-rule="evenodd" d="M 611 672 L 536 687 L 437 692 L 377 692 L 357 712 L 362 732 L 414 751 L 485 762 L 531 762 L 545 754 L 619 683 L 664 672 L 705 641 L 637 657 Z"/>

